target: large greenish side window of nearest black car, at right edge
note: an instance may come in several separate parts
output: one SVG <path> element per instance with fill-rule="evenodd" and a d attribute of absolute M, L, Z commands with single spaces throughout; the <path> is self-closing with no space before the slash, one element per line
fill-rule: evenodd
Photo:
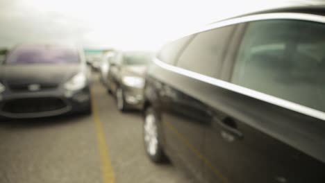
<path fill-rule="evenodd" d="M 313 21 L 248 23 L 232 82 L 325 112 L 324 33 Z"/>

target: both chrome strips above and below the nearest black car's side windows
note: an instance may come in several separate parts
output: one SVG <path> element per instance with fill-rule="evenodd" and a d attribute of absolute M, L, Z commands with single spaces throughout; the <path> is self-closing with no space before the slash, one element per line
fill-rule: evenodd
<path fill-rule="evenodd" d="M 270 12 L 270 13 L 263 13 L 263 14 L 259 14 L 259 15 L 247 15 L 245 17 L 236 17 L 233 19 L 226 19 L 224 21 L 218 21 L 216 23 L 210 24 L 203 28 L 199 28 L 196 31 L 192 31 L 192 33 L 185 34 L 185 35 L 183 35 L 183 37 L 201 33 L 206 30 L 212 30 L 214 28 L 219 28 L 222 26 L 231 26 L 234 24 L 245 23 L 248 21 L 258 21 L 258 20 L 267 20 L 267 19 L 297 19 L 297 20 L 305 20 L 305 21 L 315 21 L 315 22 L 325 24 L 325 17 L 322 15 L 311 15 L 311 14 L 306 14 L 306 13 L 301 13 L 301 12 Z M 178 40 L 178 39 L 176 39 L 176 40 Z M 172 40 L 172 41 L 174 41 L 174 40 Z M 211 85 L 215 85 L 217 87 L 229 89 L 233 92 L 237 92 L 239 94 L 244 94 L 246 96 L 256 98 L 260 101 L 272 103 L 274 105 L 278 105 L 280 107 L 285 107 L 289 110 L 299 112 L 301 114 L 306 114 L 308 116 L 313 116 L 317 119 L 321 119 L 321 120 L 325 121 L 325 112 L 315 110 L 313 108 L 306 107 L 304 105 L 299 105 L 297 103 L 293 103 L 290 101 L 286 101 L 286 100 L 284 100 L 282 98 L 278 98 L 276 96 L 270 96 L 270 95 L 264 94 L 262 92 L 257 92 L 253 89 L 241 87 L 241 86 L 235 85 L 231 82 L 226 82 L 224 80 L 219 80 L 217 78 L 211 78 L 211 77 L 205 76 L 201 73 L 196 73 L 194 71 L 189 71 L 186 69 L 175 67 L 171 64 L 167 64 L 165 62 L 158 60 L 158 58 L 155 58 L 153 60 L 153 62 L 156 65 L 158 65 L 159 67 L 162 67 L 169 71 L 173 71 L 175 73 L 182 74 L 183 76 L 188 76 L 188 77 L 194 78 L 196 80 L 201 80 L 202 82 L 207 82 L 207 83 L 209 83 Z"/>

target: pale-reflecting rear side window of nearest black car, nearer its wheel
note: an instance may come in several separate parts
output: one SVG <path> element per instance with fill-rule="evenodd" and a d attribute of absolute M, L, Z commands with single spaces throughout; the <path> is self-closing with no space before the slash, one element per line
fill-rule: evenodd
<path fill-rule="evenodd" d="M 222 58 L 233 26 L 215 28 L 194 37 L 178 59 L 177 66 L 207 76 L 215 76 L 222 65 Z"/>

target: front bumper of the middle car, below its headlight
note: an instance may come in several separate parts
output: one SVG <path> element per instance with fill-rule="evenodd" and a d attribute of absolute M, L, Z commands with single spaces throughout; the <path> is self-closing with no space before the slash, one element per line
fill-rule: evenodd
<path fill-rule="evenodd" d="M 143 88 L 129 87 L 127 85 L 122 86 L 124 92 L 124 101 L 126 107 L 142 110 L 144 105 Z"/>

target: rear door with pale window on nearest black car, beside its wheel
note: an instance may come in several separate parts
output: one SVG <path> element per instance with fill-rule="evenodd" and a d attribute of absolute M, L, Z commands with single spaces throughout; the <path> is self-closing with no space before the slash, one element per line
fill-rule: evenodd
<path fill-rule="evenodd" d="M 165 74 L 167 82 L 160 92 L 167 149 L 199 181 L 204 181 L 203 137 L 211 116 L 206 106 L 210 84 L 197 77 L 219 73 L 233 30 L 234 26 L 227 26 L 195 35 L 176 67 Z"/>

